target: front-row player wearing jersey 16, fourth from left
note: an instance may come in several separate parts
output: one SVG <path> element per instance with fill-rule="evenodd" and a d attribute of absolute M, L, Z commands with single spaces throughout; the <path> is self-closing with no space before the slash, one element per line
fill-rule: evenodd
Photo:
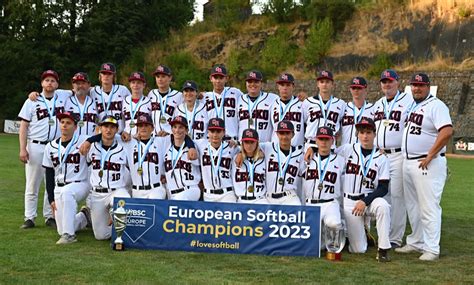
<path fill-rule="evenodd" d="M 197 201 L 201 197 L 199 161 L 189 158 L 189 146 L 185 142 L 188 121 L 178 116 L 171 121 L 172 136 L 167 137 L 164 151 L 166 189 L 171 200 Z"/>

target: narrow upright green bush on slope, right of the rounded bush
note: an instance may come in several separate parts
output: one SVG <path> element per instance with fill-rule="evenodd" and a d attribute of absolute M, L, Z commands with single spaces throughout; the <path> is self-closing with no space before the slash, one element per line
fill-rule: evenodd
<path fill-rule="evenodd" d="M 326 56 L 332 45 L 333 34 L 334 30 L 329 18 L 311 26 L 303 48 L 303 58 L 308 66 L 316 66 Z"/>

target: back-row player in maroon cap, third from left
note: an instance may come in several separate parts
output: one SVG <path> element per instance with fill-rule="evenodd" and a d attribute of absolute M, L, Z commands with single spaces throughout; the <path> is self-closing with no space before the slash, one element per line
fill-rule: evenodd
<path fill-rule="evenodd" d="M 115 84 L 116 68 L 112 63 L 104 63 L 100 66 L 99 81 L 101 86 L 95 86 L 91 90 L 91 97 L 94 98 L 98 122 L 106 116 L 114 116 L 119 123 L 118 133 L 124 129 L 122 118 L 122 106 L 125 97 L 130 95 L 130 91 L 123 85 Z"/>

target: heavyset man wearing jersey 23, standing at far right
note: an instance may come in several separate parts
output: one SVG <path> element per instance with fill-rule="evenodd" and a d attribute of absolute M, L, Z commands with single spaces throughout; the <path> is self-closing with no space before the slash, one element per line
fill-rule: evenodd
<path fill-rule="evenodd" d="M 448 107 L 430 95 L 430 79 L 413 75 L 414 102 L 403 132 L 403 187 L 412 233 L 397 252 L 423 251 L 421 260 L 439 258 L 441 194 L 446 182 L 446 144 L 453 134 Z"/>

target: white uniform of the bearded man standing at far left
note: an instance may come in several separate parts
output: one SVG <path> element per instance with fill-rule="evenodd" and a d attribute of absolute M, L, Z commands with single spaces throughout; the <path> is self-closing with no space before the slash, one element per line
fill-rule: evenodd
<path fill-rule="evenodd" d="M 38 194 L 41 181 L 44 180 L 45 169 L 42 166 L 46 144 L 60 136 L 56 114 L 64 112 L 66 94 L 56 90 L 51 99 L 40 94 L 36 101 L 27 99 L 18 114 L 18 118 L 29 123 L 26 150 L 29 159 L 25 164 L 25 220 L 34 220 L 38 207 Z M 43 216 L 53 217 L 45 191 L 43 200 Z"/>

